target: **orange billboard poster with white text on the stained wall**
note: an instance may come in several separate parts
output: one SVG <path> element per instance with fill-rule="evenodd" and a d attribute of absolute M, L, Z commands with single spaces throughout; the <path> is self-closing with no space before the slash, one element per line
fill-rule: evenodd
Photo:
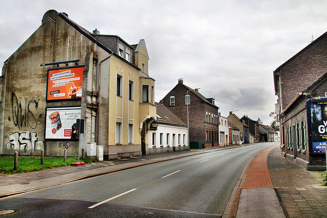
<path fill-rule="evenodd" d="M 78 100 L 82 98 L 84 66 L 48 70 L 46 100 Z"/>

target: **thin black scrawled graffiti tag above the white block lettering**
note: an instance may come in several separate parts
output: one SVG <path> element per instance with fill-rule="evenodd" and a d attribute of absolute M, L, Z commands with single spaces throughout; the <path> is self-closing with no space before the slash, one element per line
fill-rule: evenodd
<path fill-rule="evenodd" d="M 37 101 L 34 98 L 30 101 L 28 101 L 27 98 L 24 99 L 25 103 L 18 102 L 15 92 L 11 93 L 12 119 L 14 125 L 18 127 L 19 130 L 23 126 L 35 129 L 37 120 L 32 110 L 33 107 L 37 109 L 40 99 Z M 39 116 L 41 117 L 41 114 Z M 11 117 L 8 117 L 8 120 L 11 121 Z"/>

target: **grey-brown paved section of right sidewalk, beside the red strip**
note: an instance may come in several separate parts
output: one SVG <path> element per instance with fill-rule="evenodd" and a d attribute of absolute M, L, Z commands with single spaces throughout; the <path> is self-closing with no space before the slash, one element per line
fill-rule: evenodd
<path fill-rule="evenodd" d="M 322 172 L 308 172 L 273 149 L 267 164 L 287 217 L 327 217 L 327 186 L 320 182 Z"/>

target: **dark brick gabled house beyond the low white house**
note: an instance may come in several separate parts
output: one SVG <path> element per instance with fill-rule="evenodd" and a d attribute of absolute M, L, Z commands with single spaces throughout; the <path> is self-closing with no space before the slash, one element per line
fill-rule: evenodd
<path fill-rule="evenodd" d="M 187 92 L 187 93 L 186 93 Z M 177 85 L 161 100 L 185 124 L 188 123 L 186 94 L 190 95 L 189 134 L 190 144 L 202 143 L 204 148 L 219 146 L 219 107 L 215 100 L 205 98 L 197 89 L 192 89 L 178 80 Z"/>

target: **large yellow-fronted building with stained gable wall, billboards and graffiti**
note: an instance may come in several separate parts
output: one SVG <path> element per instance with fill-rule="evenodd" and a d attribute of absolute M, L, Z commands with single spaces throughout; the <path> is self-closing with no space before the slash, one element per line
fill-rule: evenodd
<path fill-rule="evenodd" d="M 84 149 L 92 156 L 98 145 L 105 159 L 147 154 L 156 118 L 148 61 L 144 40 L 130 45 L 46 12 L 3 66 L 0 151 L 77 156 Z"/>

